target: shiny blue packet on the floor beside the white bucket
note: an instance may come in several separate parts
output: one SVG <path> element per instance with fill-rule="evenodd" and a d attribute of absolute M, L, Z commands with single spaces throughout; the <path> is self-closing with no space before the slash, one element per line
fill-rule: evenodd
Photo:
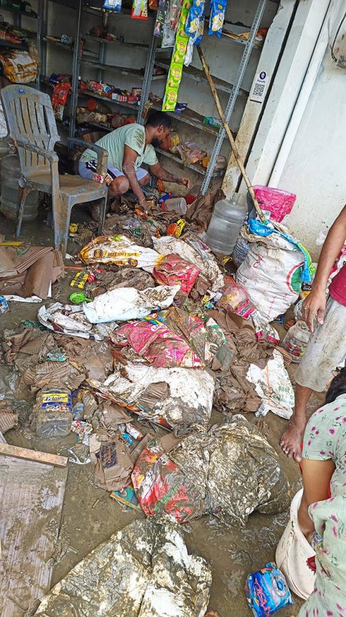
<path fill-rule="evenodd" d="M 268 617 L 293 604 L 286 579 L 274 562 L 248 575 L 245 595 L 255 617 Z"/>

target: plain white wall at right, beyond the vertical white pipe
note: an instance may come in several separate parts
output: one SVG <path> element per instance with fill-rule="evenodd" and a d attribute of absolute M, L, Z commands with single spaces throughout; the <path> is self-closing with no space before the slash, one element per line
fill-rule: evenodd
<path fill-rule="evenodd" d="M 346 71 L 325 52 L 278 186 L 297 193 L 287 223 L 317 255 L 317 235 L 346 204 Z"/>

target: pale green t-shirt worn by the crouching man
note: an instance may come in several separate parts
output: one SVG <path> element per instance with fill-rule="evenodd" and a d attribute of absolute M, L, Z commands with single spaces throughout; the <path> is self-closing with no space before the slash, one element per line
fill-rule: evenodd
<path fill-rule="evenodd" d="M 113 165 L 122 171 L 122 160 L 124 159 L 124 147 L 128 145 L 137 152 L 135 161 L 135 171 L 142 165 L 156 165 L 158 162 L 156 152 L 151 143 L 146 145 L 146 133 L 142 124 L 127 124 L 108 133 L 96 141 L 96 145 L 105 148 L 108 152 L 108 164 Z M 85 150 L 81 156 L 81 162 L 95 160 L 96 153 L 93 150 Z"/>

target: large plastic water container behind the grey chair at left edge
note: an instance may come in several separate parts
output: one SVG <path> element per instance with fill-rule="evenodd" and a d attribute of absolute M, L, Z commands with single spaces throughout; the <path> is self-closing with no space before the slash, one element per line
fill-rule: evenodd
<path fill-rule="evenodd" d="M 19 184 L 21 166 L 18 156 L 9 154 L 1 160 L 1 205 L 0 212 L 8 219 L 16 220 L 19 208 Z M 23 221 L 34 221 L 38 214 L 38 191 L 31 191 L 25 200 Z"/>

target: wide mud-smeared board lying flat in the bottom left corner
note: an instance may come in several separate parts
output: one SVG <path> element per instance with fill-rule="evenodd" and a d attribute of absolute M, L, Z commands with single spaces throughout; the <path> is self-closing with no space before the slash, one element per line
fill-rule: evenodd
<path fill-rule="evenodd" d="M 51 587 L 67 468 L 0 457 L 0 615 L 23 617 Z"/>

